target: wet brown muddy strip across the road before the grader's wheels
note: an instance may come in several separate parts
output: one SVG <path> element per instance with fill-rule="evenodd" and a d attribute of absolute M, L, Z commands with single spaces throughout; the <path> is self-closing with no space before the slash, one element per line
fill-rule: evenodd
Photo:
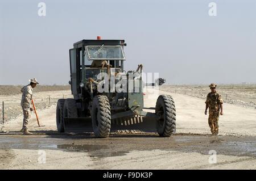
<path fill-rule="evenodd" d="M 256 157 L 255 136 L 175 135 L 162 138 L 154 135 L 112 135 L 96 139 L 90 136 L 0 136 L 0 149 L 52 149 L 85 151 L 90 157 L 122 156 L 133 150 L 177 150 L 186 153 Z"/>

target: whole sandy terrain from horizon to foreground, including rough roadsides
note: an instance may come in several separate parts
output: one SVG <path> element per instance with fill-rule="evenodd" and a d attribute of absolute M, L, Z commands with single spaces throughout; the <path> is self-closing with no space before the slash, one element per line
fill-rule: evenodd
<path fill-rule="evenodd" d="M 67 89 L 34 93 L 44 127 L 38 127 L 32 113 L 32 136 L 19 132 L 21 94 L 0 95 L 8 116 L 0 131 L 0 169 L 256 169 L 256 86 L 218 87 L 225 100 L 218 136 L 210 135 L 204 115 L 208 91 L 207 86 L 162 86 L 154 94 L 148 89 L 146 107 L 154 107 L 160 94 L 173 96 L 176 133 L 159 137 L 154 132 L 112 132 L 103 139 L 91 132 L 57 133 L 56 101 L 72 97 Z M 46 153 L 45 163 L 39 163 L 41 150 Z M 214 163 L 209 162 L 212 150 L 216 151 Z"/>

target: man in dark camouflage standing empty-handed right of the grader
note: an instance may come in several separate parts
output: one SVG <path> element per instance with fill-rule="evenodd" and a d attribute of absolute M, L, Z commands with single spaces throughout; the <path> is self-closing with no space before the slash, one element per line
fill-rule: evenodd
<path fill-rule="evenodd" d="M 218 134 L 218 117 L 223 115 L 223 100 L 221 99 L 221 95 L 216 92 L 216 84 L 210 84 L 211 92 L 207 95 L 207 100 L 205 102 L 205 115 L 207 115 L 207 110 L 209 108 L 209 118 L 208 123 L 210 127 L 210 132 L 212 135 Z M 220 112 L 221 110 L 221 112 Z"/>

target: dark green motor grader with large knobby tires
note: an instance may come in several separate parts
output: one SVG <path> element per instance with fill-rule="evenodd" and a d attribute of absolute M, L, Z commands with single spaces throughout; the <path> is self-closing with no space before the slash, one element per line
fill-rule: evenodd
<path fill-rule="evenodd" d="M 56 123 L 59 132 L 76 125 L 108 137 L 112 129 L 137 129 L 154 121 L 160 136 L 175 133 L 176 110 L 170 95 L 160 95 L 155 107 L 144 107 L 142 65 L 125 71 L 125 40 L 81 40 L 69 50 L 73 99 L 59 99 Z M 100 66 L 92 66 L 92 61 Z M 106 64 L 101 64 L 105 62 Z M 120 83 L 121 82 L 121 83 Z M 156 82 L 165 82 L 159 79 Z M 117 86 L 118 85 L 118 86 Z M 148 112 L 145 110 L 155 110 Z M 80 126 L 81 123 L 85 127 Z M 143 126 L 144 127 L 144 126 Z"/>

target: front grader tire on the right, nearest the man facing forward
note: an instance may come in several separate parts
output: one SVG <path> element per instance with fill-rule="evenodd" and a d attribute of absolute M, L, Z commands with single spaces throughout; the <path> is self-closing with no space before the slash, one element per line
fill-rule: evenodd
<path fill-rule="evenodd" d="M 172 96 L 159 95 L 155 113 L 160 117 L 157 121 L 158 134 L 163 137 L 170 137 L 176 131 L 176 108 Z"/>

